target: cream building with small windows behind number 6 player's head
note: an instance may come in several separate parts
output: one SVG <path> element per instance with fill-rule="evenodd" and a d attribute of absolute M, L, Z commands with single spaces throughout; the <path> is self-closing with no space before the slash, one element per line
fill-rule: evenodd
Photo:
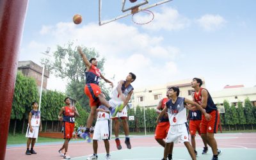
<path fill-rule="evenodd" d="M 205 88 L 204 78 L 202 87 Z M 191 93 L 194 91 L 191 88 L 192 79 L 184 79 L 182 81 L 173 81 L 159 86 L 148 86 L 146 88 L 134 89 L 134 99 L 132 99 L 132 107 L 145 106 L 149 108 L 156 108 L 159 100 L 166 97 L 167 88 L 171 86 L 179 86 L 180 97 L 186 97 L 187 99 L 192 99 Z"/>

